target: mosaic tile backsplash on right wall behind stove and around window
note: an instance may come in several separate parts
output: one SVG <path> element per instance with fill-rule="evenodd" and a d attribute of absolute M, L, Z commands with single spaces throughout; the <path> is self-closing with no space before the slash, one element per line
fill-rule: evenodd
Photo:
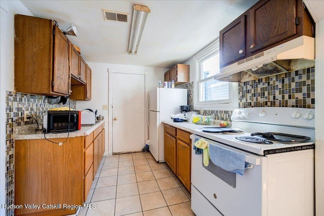
<path fill-rule="evenodd" d="M 188 90 L 188 105 L 193 110 L 193 82 L 180 85 Z M 268 76 L 238 83 L 239 108 L 300 107 L 315 109 L 315 68 Z M 199 110 L 193 110 L 199 113 Z M 232 110 L 204 110 L 216 120 L 230 121 Z"/>

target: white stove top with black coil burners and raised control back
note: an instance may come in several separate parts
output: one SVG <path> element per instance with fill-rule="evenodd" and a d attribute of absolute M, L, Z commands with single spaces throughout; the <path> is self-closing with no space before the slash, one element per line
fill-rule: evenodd
<path fill-rule="evenodd" d="M 312 149 L 315 138 L 314 113 L 314 109 L 287 107 L 235 109 L 231 117 L 232 127 L 246 133 L 215 134 L 202 129 L 191 132 L 259 155 Z"/>

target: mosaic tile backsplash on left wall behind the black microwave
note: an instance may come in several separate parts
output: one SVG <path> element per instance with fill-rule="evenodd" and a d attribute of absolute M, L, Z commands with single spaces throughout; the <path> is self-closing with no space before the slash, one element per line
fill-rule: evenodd
<path fill-rule="evenodd" d="M 33 119 L 24 121 L 24 112 L 31 114 L 41 125 L 42 113 L 50 108 L 69 106 L 69 99 L 65 105 L 62 103 L 50 105 L 47 98 L 41 95 L 29 95 L 23 93 L 6 93 L 6 204 L 14 204 L 14 127 L 31 125 L 36 122 Z M 76 102 L 71 100 L 70 107 L 76 108 Z M 36 128 L 37 126 L 35 126 Z M 14 209 L 6 209 L 6 215 L 14 215 Z"/>

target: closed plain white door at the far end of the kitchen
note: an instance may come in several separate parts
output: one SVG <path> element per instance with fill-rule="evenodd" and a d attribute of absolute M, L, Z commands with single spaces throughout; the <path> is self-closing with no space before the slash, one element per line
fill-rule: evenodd
<path fill-rule="evenodd" d="M 145 146 L 145 76 L 112 73 L 112 152 Z"/>

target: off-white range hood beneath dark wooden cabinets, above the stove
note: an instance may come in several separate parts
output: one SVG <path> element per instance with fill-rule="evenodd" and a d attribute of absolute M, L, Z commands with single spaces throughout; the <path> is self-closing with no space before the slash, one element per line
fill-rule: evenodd
<path fill-rule="evenodd" d="M 300 36 L 220 69 L 215 79 L 245 82 L 315 65 L 315 38 Z"/>

